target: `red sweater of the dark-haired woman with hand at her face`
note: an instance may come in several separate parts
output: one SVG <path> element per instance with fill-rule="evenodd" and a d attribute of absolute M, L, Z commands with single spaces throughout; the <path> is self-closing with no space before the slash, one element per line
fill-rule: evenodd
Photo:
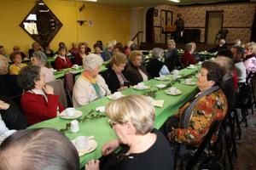
<path fill-rule="evenodd" d="M 65 108 L 59 103 L 58 95 L 47 94 L 48 102 L 41 94 L 32 94 L 25 92 L 20 99 L 20 107 L 24 115 L 27 117 L 28 125 L 43 122 L 47 119 L 54 118 L 59 111 Z"/>

